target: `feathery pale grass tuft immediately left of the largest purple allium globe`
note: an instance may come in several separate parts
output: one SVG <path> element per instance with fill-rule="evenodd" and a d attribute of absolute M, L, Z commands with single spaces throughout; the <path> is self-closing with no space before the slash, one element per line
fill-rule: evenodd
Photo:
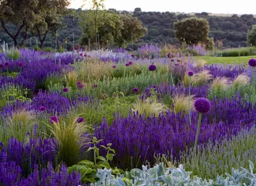
<path fill-rule="evenodd" d="M 174 113 L 185 111 L 185 113 L 188 114 L 189 110 L 193 109 L 195 95 L 189 97 L 185 94 L 176 94 L 172 100 Z"/>

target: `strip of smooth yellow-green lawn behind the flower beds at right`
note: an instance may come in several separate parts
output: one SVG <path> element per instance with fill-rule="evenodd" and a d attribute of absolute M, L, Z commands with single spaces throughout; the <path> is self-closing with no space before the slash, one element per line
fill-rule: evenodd
<path fill-rule="evenodd" d="M 241 56 L 241 57 L 213 57 L 213 56 L 198 56 L 195 59 L 204 59 L 207 64 L 243 64 L 244 62 L 247 64 L 248 61 L 252 58 L 256 58 L 254 56 Z"/>

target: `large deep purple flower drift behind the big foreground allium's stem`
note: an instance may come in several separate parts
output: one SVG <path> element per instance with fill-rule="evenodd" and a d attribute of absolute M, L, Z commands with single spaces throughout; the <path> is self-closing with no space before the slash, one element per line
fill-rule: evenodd
<path fill-rule="evenodd" d="M 256 110 L 252 104 L 236 97 L 228 99 L 214 99 L 211 110 L 202 115 L 202 125 L 198 143 L 206 143 L 210 139 L 221 140 L 223 136 L 232 136 L 241 129 L 250 128 L 256 119 Z M 209 108 L 209 107 L 207 107 Z M 119 166 L 127 168 L 131 157 L 140 163 L 143 159 L 153 161 L 154 154 L 167 154 L 179 158 L 180 152 L 193 147 L 195 143 L 198 113 L 191 113 L 191 125 L 188 115 L 175 115 L 168 111 L 166 115 L 145 118 L 138 113 L 128 118 L 117 117 L 112 125 L 104 121 L 95 128 L 95 136 L 104 140 L 104 145 L 112 143 L 116 151 L 116 161 Z"/>

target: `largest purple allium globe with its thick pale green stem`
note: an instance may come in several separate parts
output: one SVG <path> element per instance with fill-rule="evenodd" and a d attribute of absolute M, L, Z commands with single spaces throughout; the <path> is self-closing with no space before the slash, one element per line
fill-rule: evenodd
<path fill-rule="evenodd" d="M 195 106 L 195 110 L 199 112 L 198 125 L 197 125 L 197 131 L 196 131 L 196 140 L 195 140 L 195 146 L 194 146 L 194 148 L 196 148 L 198 136 L 199 136 L 199 132 L 200 132 L 202 113 L 207 113 L 208 111 L 211 110 L 211 103 L 208 99 L 205 99 L 204 97 L 200 97 L 200 98 L 196 99 L 194 106 Z"/>

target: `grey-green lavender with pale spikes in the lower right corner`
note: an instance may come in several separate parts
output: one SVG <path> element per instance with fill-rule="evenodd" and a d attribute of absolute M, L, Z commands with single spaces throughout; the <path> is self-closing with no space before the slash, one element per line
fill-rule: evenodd
<path fill-rule="evenodd" d="M 206 146 L 184 152 L 179 163 L 202 178 L 232 173 L 232 168 L 250 168 L 249 160 L 255 162 L 256 129 L 244 130 L 238 136 L 222 141 L 210 142 Z M 188 155 L 189 154 L 189 155 Z"/>

